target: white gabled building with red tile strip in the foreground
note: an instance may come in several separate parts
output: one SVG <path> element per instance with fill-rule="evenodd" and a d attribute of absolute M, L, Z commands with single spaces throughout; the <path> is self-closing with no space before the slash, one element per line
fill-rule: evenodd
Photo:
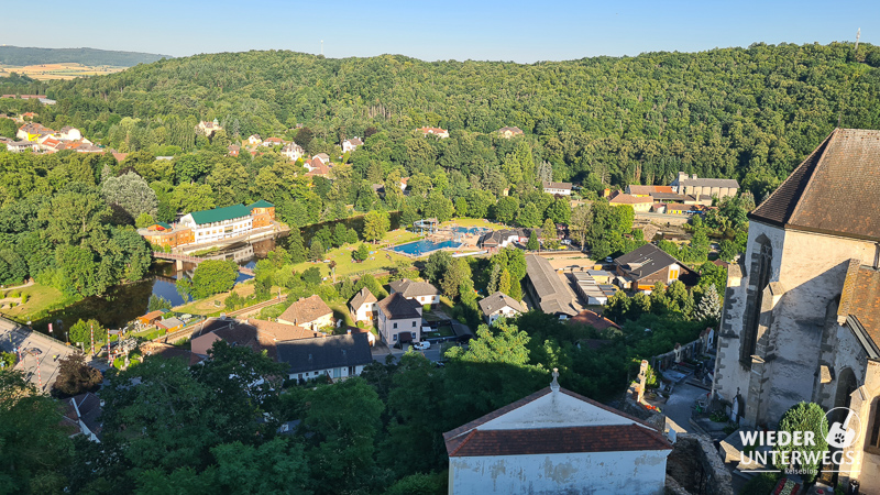
<path fill-rule="evenodd" d="M 549 387 L 443 433 L 450 494 L 664 493 L 672 446 L 649 424 Z"/>

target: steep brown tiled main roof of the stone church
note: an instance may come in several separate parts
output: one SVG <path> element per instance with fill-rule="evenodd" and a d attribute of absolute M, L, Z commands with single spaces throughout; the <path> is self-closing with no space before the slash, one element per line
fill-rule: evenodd
<path fill-rule="evenodd" d="M 835 129 L 749 218 L 880 241 L 880 131 Z"/>

